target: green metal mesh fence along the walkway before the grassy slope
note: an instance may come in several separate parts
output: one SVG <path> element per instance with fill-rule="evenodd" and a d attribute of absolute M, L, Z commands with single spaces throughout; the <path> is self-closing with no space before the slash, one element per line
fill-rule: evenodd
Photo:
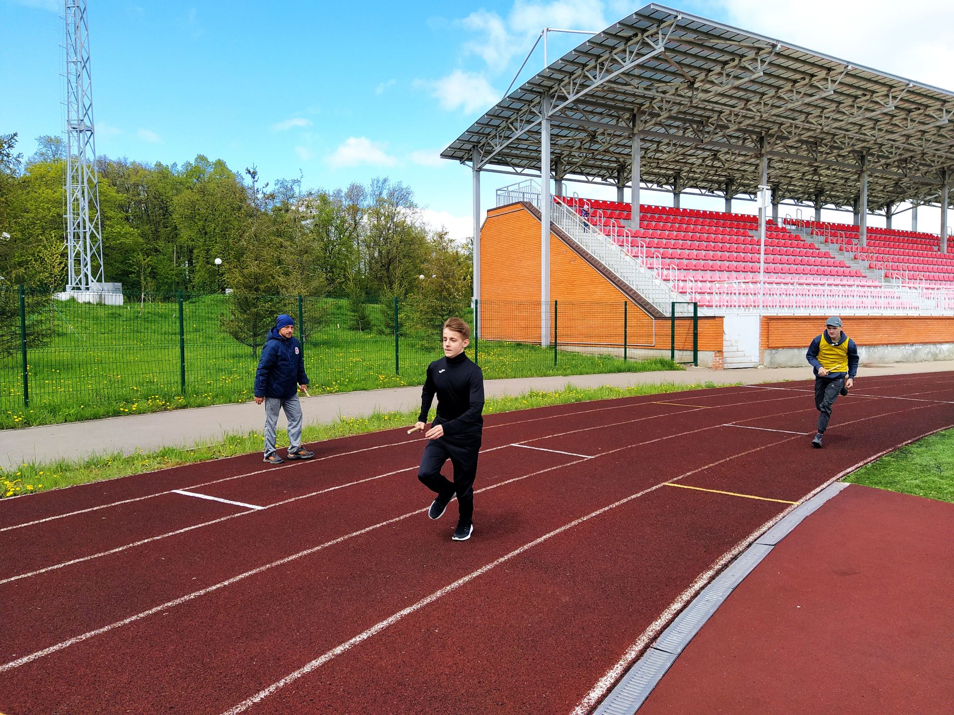
<path fill-rule="evenodd" d="M 486 378 L 672 366 L 661 359 L 670 356 L 656 345 L 655 324 L 636 312 L 623 301 L 471 306 L 181 293 L 110 305 L 0 284 L 0 427 L 251 399 L 279 313 L 296 318 L 313 395 L 423 383 L 427 364 L 442 355 L 441 325 L 450 316 L 479 321 L 467 353 Z"/>

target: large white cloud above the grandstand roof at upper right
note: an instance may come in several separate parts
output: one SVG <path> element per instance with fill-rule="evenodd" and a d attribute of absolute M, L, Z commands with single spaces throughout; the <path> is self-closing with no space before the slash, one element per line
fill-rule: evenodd
<path fill-rule="evenodd" d="M 954 89 L 954 4 L 949 0 L 909 0 L 903 9 L 886 0 L 718 0 L 717 6 L 737 27 Z"/>

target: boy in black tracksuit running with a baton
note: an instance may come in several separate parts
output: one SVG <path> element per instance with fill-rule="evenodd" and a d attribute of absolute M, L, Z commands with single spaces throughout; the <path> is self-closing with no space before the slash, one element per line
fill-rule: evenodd
<path fill-rule="evenodd" d="M 477 455 L 484 430 L 484 374 L 464 349 L 470 343 L 470 328 L 459 317 L 444 323 L 444 358 L 427 367 L 427 379 L 421 391 L 421 415 L 416 426 L 425 429 L 430 404 L 437 395 L 437 417 L 425 433 L 428 439 L 421 458 L 418 479 L 437 498 L 427 516 L 440 519 L 447 504 L 457 496 L 460 519 L 453 541 L 467 541 L 473 533 L 473 483 L 477 476 Z M 441 474 L 446 460 L 454 467 L 451 483 Z"/>

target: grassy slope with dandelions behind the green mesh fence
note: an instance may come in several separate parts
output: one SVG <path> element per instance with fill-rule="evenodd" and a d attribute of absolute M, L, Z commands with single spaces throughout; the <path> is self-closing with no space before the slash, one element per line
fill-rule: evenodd
<path fill-rule="evenodd" d="M 288 303 L 279 310 L 297 320 L 297 298 Z M 0 358 L 0 429 L 252 398 L 259 350 L 221 327 L 228 313 L 225 296 L 184 302 L 181 345 L 176 302 L 106 306 L 53 300 L 45 310 L 28 328 L 28 334 L 50 335 L 46 345 L 28 350 L 29 407 L 20 353 Z M 393 308 L 366 305 L 362 330 L 345 300 L 306 298 L 302 312 L 313 395 L 422 384 L 427 364 L 442 355 L 439 331 L 421 327 L 426 321 L 405 309 L 397 346 Z M 296 330 L 301 337 L 301 326 Z M 467 353 L 487 379 L 681 369 L 647 350 L 632 350 L 624 361 L 564 350 L 554 356 L 552 348 L 539 345 L 481 340 Z"/>

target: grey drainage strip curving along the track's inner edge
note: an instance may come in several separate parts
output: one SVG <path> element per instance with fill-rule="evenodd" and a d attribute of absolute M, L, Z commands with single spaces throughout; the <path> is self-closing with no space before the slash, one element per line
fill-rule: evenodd
<path fill-rule="evenodd" d="M 592 711 L 593 715 L 633 715 L 646 702 L 679 653 L 693 640 L 695 634 L 736 586 L 752 573 L 758 563 L 802 520 L 848 485 L 848 482 L 843 481 L 829 484 L 754 541 L 676 616 L 673 623 L 670 623 L 603 702 Z"/>

